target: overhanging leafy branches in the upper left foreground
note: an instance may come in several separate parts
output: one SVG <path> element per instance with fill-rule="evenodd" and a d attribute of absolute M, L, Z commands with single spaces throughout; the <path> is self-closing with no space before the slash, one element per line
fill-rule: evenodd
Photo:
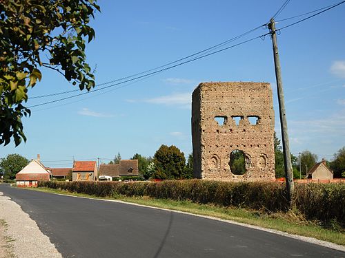
<path fill-rule="evenodd" d="M 79 89 L 95 86 L 85 40 L 95 37 L 88 23 L 96 10 L 94 0 L 0 1 L 0 144 L 26 141 L 21 118 L 31 113 L 23 103 L 42 78 L 39 68 L 59 72 Z"/>

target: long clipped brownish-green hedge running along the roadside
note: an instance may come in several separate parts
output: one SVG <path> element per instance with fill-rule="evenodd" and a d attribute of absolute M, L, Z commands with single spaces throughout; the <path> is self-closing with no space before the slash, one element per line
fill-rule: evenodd
<path fill-rule="evenodd" d="M 285 185 L 277 182 L 39 182 L 39 186 L 98 197 L 149 196 L 277 212 L 286 211 Z M 295 206 L 308 219 L 345 221 L 345 184 L 296 184 Z"/>

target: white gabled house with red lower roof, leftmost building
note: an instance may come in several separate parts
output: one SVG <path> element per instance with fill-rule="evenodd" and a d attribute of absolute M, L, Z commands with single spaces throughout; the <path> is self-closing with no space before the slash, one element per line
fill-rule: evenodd
<path fill-rule="evenodd" d="M 16 175 L 16 185 L 19 187 L 37 187 L 38 181 L 49 181 L 50 173 L 39 161 L 39 154 L 36 160 L 31 160 Z"/>

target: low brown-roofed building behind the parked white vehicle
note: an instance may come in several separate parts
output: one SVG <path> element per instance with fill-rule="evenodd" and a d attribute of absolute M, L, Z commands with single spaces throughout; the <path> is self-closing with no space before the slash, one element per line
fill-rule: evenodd
<path fill-rule="evenodd" d="M 120 160 L 119 164 L 101 164 L 99 166 L 99 175 L 108 175 L 112 178 L 137 176 L 139 175 L 138 160 Z"/>

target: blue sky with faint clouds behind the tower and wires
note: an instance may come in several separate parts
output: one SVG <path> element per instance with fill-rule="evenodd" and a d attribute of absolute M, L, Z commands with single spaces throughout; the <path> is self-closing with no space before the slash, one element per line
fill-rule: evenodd
<path fill-rule="evenodd" d="M 87 47 L 96 83 L 170 63 L 247 32 L 269 21 L 284 1 L 104 1 L 98 2 Z M 277 21 L 337 1 L 291 0 Z M 278 36 L 290 151 L 308 149 L 330 160 L 345 145 L 345 4 L 281 31 Z M 277 28 L 303 19 L 280 21 Z M 259 28 L 231 44 L 266 34 Z M 43 79 L 29 92 L 41 96 L 74 87 L 42 69 Z M 191 94 L 201 82 L 268 82 L 273 87 L 275 130 L 280 136 L 277 90 L 270 37 L 181 65 L 135 83 L 110 87 L 32 108 L 24 118 L 26 144 L 0 147 L 0 158 L 41 154 L 46 166 L 72 166 L 72 160 L 103 162 L 120 152 L 154 155 L 161 144 L 175 144 L 188 155 Z M 63 95 L 70 96 L 70 95 Z M 55 100 L 35 98 L 27 105 Z"/>

